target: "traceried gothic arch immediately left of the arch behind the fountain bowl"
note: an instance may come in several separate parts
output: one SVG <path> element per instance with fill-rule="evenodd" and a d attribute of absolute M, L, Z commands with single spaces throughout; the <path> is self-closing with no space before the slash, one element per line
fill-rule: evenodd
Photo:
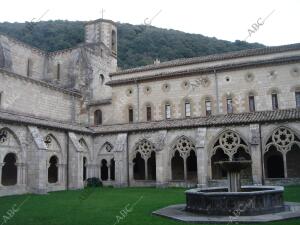
<path fill-rule="evenodd" d="M 172 180 L 197 180 L 197 156 L 195 142 L 182 135 L 177 137 L 170 149 Z"/>

